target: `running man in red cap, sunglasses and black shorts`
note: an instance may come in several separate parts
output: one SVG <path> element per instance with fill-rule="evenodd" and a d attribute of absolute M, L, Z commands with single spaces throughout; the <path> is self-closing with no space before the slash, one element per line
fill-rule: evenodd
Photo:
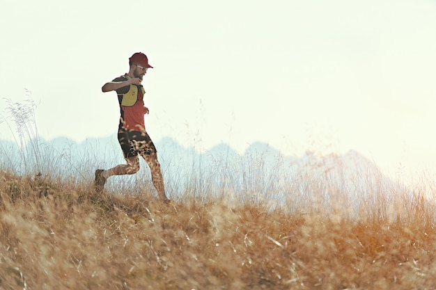
<path fill-rule="evenodd" d="M 127 74 L 117 77 L 102 86 L 103 92 L 115 90 L 120 104 L 120 124 L 118 126 L 118 142 L 123 150 L 127 164 L 120 164 L 109 170 L 95 170 L 95 190 L 103 191 L 106 180 L 112 175 L 132 175 L 139 170 L 139 156 L 146 160 L 151 171 L 151 178 L 159 199 L 169 202 L 166 197 L 164 180 L 157 161 L 156 147 L 146 132 L 144 115 L 148 108 L 143 104 L 145 90 L 141 85 L 143 76 L 148 68 L 153 68 L 148 63 L 145 54 L 137 52 L 129 58 L 130 70 Z"/>

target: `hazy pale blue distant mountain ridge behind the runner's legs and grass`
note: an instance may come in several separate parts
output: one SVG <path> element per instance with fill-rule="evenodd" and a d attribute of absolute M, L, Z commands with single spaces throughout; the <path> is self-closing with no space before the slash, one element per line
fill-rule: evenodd
<path fill-rule="evenodd" d="M 48 141 L 41 139 L 33 142 L 33 146 L 35 144 L 38 144 L 40 156 L 35 156 L 38 150 L 29 146 L 20 150 L 13 142 L 0 141 L 3 168 L 12 166 L 17 172 L 45 170 L 47 174 L 68 172 L 76 179 L 91 182 L 96 168 L 111 168 L 124 163 L 116 136 L 88 138 L 81 143 L 59 137 Z M 373 162 L 355 151 L 343 155 L 306 153 L 303 156 L 284 156 L 279 150 L 256 142 L 243 154 L 238 154 L 225 143 L 196 152 L 194 147 L 183 147 L 169 137 L 159 140 L 156 147 L 166 188 L 173 195 L 185 191 L 202 195 L 219 189 L 221 193 L 247 195 L 247 198 L 256 195 L 265 200 L 290 199 L 295 202 L 295 198 L 309 195 L 329 200 L 339 191 L 350 197 L 369 196 L 374 188 L 396 186 Z M 26 168 L 23 163 L 26 163 Z M 143 161 L 141 166 L 147 167 Z M 144 179 L 150 184 L 149 175 L 146 168 L 131 177 L 109 179 L 113 181 L 108 186 L 117 191 L 117 186 L 127 179 L 132 184 L 142 184 Z"/>

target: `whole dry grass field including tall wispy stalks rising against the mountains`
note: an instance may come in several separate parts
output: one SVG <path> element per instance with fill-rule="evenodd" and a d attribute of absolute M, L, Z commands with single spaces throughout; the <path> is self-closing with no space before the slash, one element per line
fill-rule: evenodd
<path fill-rule="evenodd" d="M 39 143 L 35 107 L 9 101 L 0 118 L 18 145 L 0 148 L 1 290 L 436 289 L 432 177 L 267 175 L 254 158 L 249 172 L 172 176 L 170 204 L 142 179 L 98 194 L 91 156 L 76 168 Z M 222 188 L 209 186 L 217 177 Z"/>

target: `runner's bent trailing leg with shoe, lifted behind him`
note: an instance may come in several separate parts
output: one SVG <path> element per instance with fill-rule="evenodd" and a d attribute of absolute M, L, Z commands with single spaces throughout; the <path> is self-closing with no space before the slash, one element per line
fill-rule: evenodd
<path fill-rule="evenodd" d="M 132 175 L 139 170 L 139 158 L 138 156 L 132 156 L 125 158 L 127 164 L 120 164 L 114 168 L 108 170 L 98 169 L 95 170 L 95 191 L 103 191 L 104 184 L 107 179 L 113 175 Z"/>

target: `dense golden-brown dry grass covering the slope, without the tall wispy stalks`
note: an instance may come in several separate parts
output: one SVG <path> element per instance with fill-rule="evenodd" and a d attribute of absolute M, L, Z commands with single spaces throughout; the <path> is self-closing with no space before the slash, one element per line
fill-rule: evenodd
<path fill-rule="evenodd" d="M 0 198 L 0 289 L 436 289 L 434 208 L 419 193 L 350 217 L 311 201 L 165 205 L 3 171 Z"/>

